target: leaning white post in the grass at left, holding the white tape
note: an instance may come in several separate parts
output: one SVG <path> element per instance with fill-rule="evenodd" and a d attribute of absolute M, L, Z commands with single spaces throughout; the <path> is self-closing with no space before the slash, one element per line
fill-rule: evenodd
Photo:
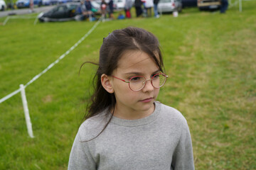
<path fill-rule="evenodd" d="M 20 88 L 21 88 L 21 99 L 22 99 L 23 109 L 24 109 L 25 118 L 26 118 L 26 125 L 28 129 L 28 135 L 31 138 L 33 138 L 34 136 L 33 136 L 32 124 L 31 124 L 31 119 L 28 112 L 28 102 L 26 101 L 25 88 L 23 84 L 20 85 Z"/>

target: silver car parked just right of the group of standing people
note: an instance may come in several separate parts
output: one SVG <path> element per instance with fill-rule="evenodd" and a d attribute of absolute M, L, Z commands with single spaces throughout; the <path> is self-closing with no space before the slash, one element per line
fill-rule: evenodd
<path fill-rule="evenodd" d="M 181 0 L 160 0 L 157 6 L 157 11 L 159 11 L 159 13 L 169 13 L 174 11 L 181 12 L 181 10 Z"/>

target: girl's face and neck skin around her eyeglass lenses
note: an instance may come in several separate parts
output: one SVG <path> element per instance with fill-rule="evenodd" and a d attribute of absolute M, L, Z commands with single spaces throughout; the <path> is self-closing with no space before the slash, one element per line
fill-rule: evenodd
<path fill-rule="evenodd" d="M 152 75 L 159 72 L 159 67 L 145 52 L 128 51 L 124 52 L 112 76 L 125 81 L 129 81 L 134 76 L 143 76 L 147 80 L 151 80 Z M 146 81 L 146 85 L 140 91 L 132 91 L 129 89 L 128 83 L 114 77 L 110 77 L 110 82 L 117 101 L 114 110 L 115 116 L 137 119 L 154 112 L 154 101 L 159 94 L 159 89 L 155 89 L 151 81 Z"/>

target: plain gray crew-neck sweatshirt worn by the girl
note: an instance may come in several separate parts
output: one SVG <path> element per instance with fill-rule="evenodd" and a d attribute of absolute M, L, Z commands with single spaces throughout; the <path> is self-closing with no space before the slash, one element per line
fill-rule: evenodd
<path fill-rule="evenodd" d="M 107 111 L 80 126 L 69 170 L 194 169 L 191 135 L 186 119 L 176 109 L 156 101 L 151 115 L 137 120 L 113 117 L 96 137 L 109 120 Z"/>

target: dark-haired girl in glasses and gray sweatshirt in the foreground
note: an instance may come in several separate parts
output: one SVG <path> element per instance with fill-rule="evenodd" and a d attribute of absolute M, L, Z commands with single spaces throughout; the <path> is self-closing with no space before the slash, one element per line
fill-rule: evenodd
<path fill-rule="evenodd" d="M 185 118 L 156 101 L 168 77 L 157 38 L 142 28 L 114 30 L 103 40 L 98 65 L 68 169 L 194 169 Z"/>

